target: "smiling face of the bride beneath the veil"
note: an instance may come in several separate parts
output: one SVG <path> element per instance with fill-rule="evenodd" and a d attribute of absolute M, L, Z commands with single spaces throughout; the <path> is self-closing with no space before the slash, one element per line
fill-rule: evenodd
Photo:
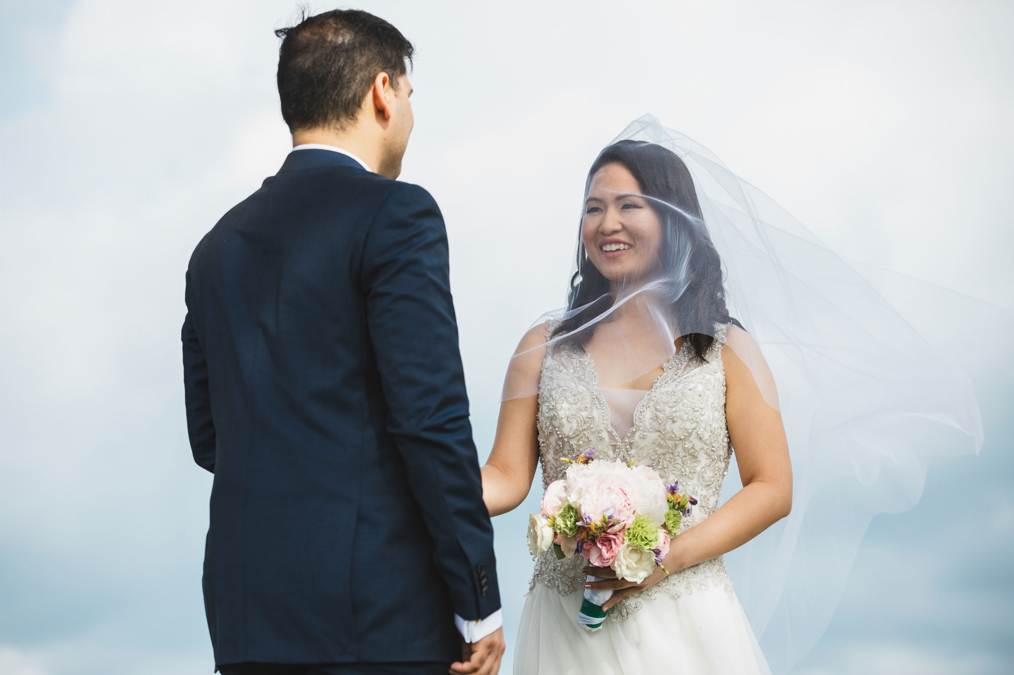
<path fill-rule="evenodd" d="M 662 224 L 630 169 L 606 164 L 591 178 L 581 239 L 591 264 L 614 284 L 648 278 L 658 265 Z"/>

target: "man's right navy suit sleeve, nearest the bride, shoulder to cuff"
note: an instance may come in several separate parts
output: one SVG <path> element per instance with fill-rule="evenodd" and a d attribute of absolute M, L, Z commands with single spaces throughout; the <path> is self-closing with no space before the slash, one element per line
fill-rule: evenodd
<path fill-rule="evenodd" d="M 468 422 L 447 236 L 425 190 L 393 189 L 366 233 L 362 271 L 387 429 L 435 542 L 437 569 L 454 612 L 486 618 L 500 608 L 493 526 Z"/>

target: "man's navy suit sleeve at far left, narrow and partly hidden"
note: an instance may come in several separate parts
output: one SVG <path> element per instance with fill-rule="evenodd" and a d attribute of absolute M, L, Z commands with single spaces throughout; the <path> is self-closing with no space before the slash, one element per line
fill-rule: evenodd
<path fill-rule="evenodd" d="M 190 273 L 187 273 L 187 306 L 191 306 Z M 194 461 L 215 472 L 215 422 L 211 417 L 208 362 L 201 351 L 190 311 L 184 318 L 184 393 L 187 401 L 187 431 Z"/>

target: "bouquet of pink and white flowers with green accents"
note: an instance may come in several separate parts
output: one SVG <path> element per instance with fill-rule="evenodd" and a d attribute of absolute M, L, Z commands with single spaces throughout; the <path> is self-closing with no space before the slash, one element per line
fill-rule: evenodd
<path fill-rule="evenodd" d="M 570 464 L 567 475 L 550 483 L 541 510 L 530 515 L 528 551 L 537 556 L 552 546 L 560 559 L 580 553 L 594 567 L 610 568 L 618 579 L 640 584 L 662 567 L 669 541 L 697 500 L 680 495 L 678 482 L 666 485 L 650 466 L 594 460 L 594 448 L 561 458 Z M 600 628 L 602 605 L 611 595 L 586 590 L 578 623 Z"/>

